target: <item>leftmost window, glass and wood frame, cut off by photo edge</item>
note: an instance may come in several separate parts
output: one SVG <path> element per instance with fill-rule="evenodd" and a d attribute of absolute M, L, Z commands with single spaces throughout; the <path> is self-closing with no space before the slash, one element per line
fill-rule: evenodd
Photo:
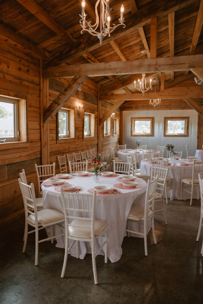
<path fill-rule="evenodd" d="M 0 96 L 0 142 L 26 141 L 26 102 Z"/>

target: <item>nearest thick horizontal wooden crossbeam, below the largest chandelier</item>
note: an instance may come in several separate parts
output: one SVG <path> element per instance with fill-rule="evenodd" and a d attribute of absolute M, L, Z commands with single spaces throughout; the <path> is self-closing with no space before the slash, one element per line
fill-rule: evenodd
<path fill-rule="evenodd" d="M 89 77 L 94 77 L 119 74 L 152 73 L 160 71 L 187 71 L 196 67 L 203 67 L 203 55 L 49 67 L 44 71 L 43 77 L 68 78 L 83 74 L 86 74 Z"/>

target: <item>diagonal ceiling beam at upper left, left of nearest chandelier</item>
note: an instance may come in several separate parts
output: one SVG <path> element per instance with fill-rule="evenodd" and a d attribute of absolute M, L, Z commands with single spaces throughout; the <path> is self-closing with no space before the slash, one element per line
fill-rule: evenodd
<path fill-rule="evenodd" d="M 21 5 L 23 5 L 29 12 L 36 16 L 40 21 L 46 24 L 50 29 L 52 29 L 58 36 L 60 36 L 67 43 L 72 44 L 72 36 L 61 26 L 58 22 L 54 20 L 44 9 L 41 8 L 37 2 L 34 0 L 17 0 Z"/>

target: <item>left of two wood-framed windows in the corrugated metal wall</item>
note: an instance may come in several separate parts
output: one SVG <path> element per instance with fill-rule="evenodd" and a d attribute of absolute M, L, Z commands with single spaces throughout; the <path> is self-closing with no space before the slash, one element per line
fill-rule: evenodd
<path fill-rule="evenodd" d="M 154 117 L 131 117 L 131 136 L 154 136 Z"/>

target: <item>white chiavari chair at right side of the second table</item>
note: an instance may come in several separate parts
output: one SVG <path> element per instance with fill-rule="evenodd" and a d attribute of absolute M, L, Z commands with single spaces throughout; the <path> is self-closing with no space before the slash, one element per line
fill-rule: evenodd
<path fill-rule="evenodd" d="M 196 161 L 193 160 L 193 167 L 192 167 L 192 177 L 188 178 L 181 178 L 181 189 L 180 189 L 180 199 L 182 199 L 182 192 L 183 190 L 186 192 L 191 193 L 190 197 L 190 206 L 192 205 L 192 197 L 193 197 L 193 189 L 195 187 L 195 199 L 197 199 L 197 190 L 199 190 L 199 178 L 198 174 L 203 173 L 203 161 Z M 183 183 L 186 184 L 183 186 Z M 185 189 L 191 187 L 191 191 Z"/>

